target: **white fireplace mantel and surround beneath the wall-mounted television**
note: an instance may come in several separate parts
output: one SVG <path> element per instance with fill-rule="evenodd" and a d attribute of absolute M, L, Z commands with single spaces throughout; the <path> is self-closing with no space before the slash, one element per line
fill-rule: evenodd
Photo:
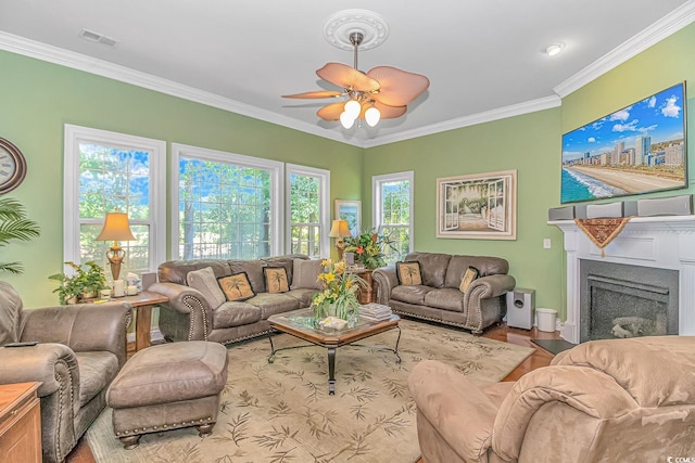
<path fill-rule="evenodd" d="M 648 294 L 645 298 L 653 299 L 650 304 L 654 314 L 645 316 L 648 310 L 643 307 L 637 314 L 624 316 L 647 319 L 643 323 L 654 325 L 654 329 L 658 325 L 662 330 L 666 324 L 668 334 L 695 335 L 695 216 L 632 218 L 620 234 L 604 248 L 603 256 L 601 249 L 573 220 L 554 220 L 548 221 L 548 224 L 557 226 L 565 233 L 567 317 L 560 327 L 564 339 L 578 344 L 590 338 L 587 333 L 591 331 L 591 319 L 582 314 L 582 279 L 586 276 L 582 275 L 582 267 L 586 266 L 583 263 L 585 261 L 619 263 L 633 268 L 632 273 L 628 273 L 627 276 L 608 271 L 608 274 L 599 274 L 593 279 L 591 284 L 595 285 L 595 288 L 592 291 L 597 303 L 604 307 L 629 307 L 635 299 L 624 297 L 631 294 Z M 633 282 L 635 275 L 652 270 L 667 271 L 671 279 L 675 279 L 677 284 L 662 285 L 664 276 L 660 274 L 647 281 Z M 618 291 L 617 286 L 624 285 L 626 282 L 628 285 L 632 284 L 632 287 Z M 668 293 L 669 303 L 665 301 L 665 292 Z M 621 303 L 615 303 L 618 298 L 623 299 Z M 615 319 L 620 318 L 619 316 L 605 314 L 601 321 L 612 323 Z M 611 326 L 611 333 L 615 324 Z"/>

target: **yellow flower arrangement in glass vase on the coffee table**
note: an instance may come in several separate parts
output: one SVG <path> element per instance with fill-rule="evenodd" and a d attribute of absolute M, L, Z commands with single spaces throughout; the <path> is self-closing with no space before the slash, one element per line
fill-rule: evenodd
<path fill-rule="evenodd" d="M 365 286 L 364 280 L 355 273 L 346 271 L 344 260 L 333 263 L 330 259 L 321 260 L 324 272 L 318 274 L 323 291 L 314 295 L 312 308 L 316 320 L 328 316 L 349 320 L 359 310 L 357 291 Z"/>

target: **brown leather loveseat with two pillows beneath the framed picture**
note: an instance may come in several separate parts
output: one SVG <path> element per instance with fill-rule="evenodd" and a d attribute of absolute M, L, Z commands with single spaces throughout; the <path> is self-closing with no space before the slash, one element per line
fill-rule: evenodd
<path fill-rule="evenodd" d="M 498 257 L 410 253 L 403 262 L 417 262 L 420 284 L 407 284 L 395 266 L 372 272 L 377 303 L 399 314 L 435 321 L 480 334 L 506 313 L 506 293 L 516 281 L 507 274 L 509 263 Z M 462 291 L 466 272 L 477 278 Z M 404 284 L 405 283 L 405 284 Z"/>

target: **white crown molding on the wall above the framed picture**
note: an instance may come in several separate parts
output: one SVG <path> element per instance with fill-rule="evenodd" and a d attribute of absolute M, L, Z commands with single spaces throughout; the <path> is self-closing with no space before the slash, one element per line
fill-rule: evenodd
<path fill-rule="evenodd" d="M 507 117 L 520 116 L 522 114 L 535 113 L 536 111 L 548 110 L 551 107 L 560 106 L 561 100 L 557 95 L 540 98 L 523 103 L 513 104 L 510 106 L 498 107 L 496 110 L 485 111 L 483 113 L 472 114 L 470 116 L 458 117 L 456 119 L 445 120 L 440 124 L 432 124 L 419 127 L 413 130 L 404 130 L 391 136 L 383 136 L 372 140 L 366 140 L 363 147 L 374 147 L 382 144 L 394 143 L 397 141 L 409 140 L 418 137 L 440 133 L 447 130 L 460 129 L 464 127 L 476 126 L 478 124 L 491 123 L 493 120 L 505 119 Z"/>

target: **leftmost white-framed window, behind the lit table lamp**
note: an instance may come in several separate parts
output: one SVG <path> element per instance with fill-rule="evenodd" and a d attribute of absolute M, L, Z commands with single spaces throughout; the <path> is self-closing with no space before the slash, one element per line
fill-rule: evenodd
<path fill-rule="evenodd" d="M 166 143 L 78 126 L 65 126 L 64 259 L 94 260 L 110 276 L 105 253 L 94 241 L 106 213 L 127 213 L 136 241 L 121 275 L 155 271 L 165 259 Z"/>

